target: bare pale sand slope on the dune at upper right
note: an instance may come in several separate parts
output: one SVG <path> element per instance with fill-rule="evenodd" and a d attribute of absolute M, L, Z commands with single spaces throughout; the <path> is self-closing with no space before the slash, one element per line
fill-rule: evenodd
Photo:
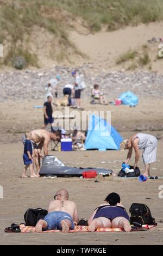
<path fill-rule="evenodd" d="M 121 54 L 128 51 L 139 52 L 143 45 L 147 45 L 152 60 L 152 70 L 162 73 L 162 62 L 156 59 L 160 42 L 156 42 L 154 45 L 148 44 L 148 40 L 154 36 L 162 38 L 162 27 L 162 22 L 154 22 L 149 23 L 149 25 L 128 26 L 113 32 L 107 32 L 103 29 L 103 31 L 95 34 L 79 34 L 72 31 L 70 38 L 95 66 L 106 70 L 121 70 L 124 65 L 116 65 L 116 59 Z M 143 67 L 143 69 L 146 68 L 147 66 Z"/>

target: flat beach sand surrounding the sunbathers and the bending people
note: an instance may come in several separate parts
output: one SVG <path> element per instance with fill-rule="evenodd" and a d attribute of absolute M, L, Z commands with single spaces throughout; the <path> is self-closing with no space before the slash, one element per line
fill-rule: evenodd
<path fill-rule="evenodd" d="M 159 186 L 163 179 L 138 180 L 120 179 L 117 177 L 93 179 L 57 178 L 57 179 L 21 179 L 23 169 L 21 143 L 22 133 L 25 130 L 42 126 L 42 109 L 34 109 L 33 105 L 40 105 L 41 101 L 6 102 L 0 104 L 0 185 L 4 188 L 4 198 L 0 199 L 0 244 L 1 245 L 162 245 L 163 244 L 163 217 L 162 200 L 159 199 Z M 136 108 L 126 106 L 90 106 L 85 102 L 88 110 L 112 111 L 112 124 L 121 130 L 124 137 L 133 134 L 134 128 L 142 123 L 145 127 L 160 127 L 162 124 L 162 102 L 156 106 L 151 99 L 140 100 Z M 131 125 L 132 124 L 132 125 Z M 161 137 L 163 132 L 145 131 Z M 157 161 L 152 164 L 151 175 L 163 174 L 163 138 L 158 141 Z M 83 151 L 83 152 L 54 152 L 51 155 L 59 157 L 61 161 L 76 167 L 104 167 L 114 170 L 117 174 L 121 163 L 125 159 L 126 151 Z M 105 163 L 102 163 L 104 161 Z M 131 161 L 132 163 L 133 161 Z M 139 162 L 143 170 L 143 163 Z M 55 191 L 66 188 L 70 199 L 77 204 L 80 218 L 88 218 L 93 209 L 103 202 L 110 192 L 118 192 L 122 202 L 129 211 L 131 203 L 146 203 L 152 211 L 158 226 L 152 230 L 135 233 L 76 233 L 76 234 L 7 234 L 4 228 L 11 223 L 23 222 L 24 212 L 28 208 L 45 208 L 53 199 Z"/>

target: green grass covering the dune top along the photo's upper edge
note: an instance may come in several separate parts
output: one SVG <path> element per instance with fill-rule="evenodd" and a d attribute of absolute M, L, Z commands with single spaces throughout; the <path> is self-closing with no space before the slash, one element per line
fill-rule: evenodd
<path fill-rule="evenodd" d="M 61 15 L 55 15 L 56 11 Z M 69 14 L 68 19 L 64 12 Z M 13 52 L 13 49 L 17 49 L 17 44 L 23 41 L 24 34 L 30 36 L 36 25 L 55 35 L 63 49 L 57 58 L 62 59 L 68 47 L 77 51 L 68 39 L 68 29 L 73 26 L 70 19 L 72 21 L 77 17 L 82 17 L 92 32 L 99 31 L 103 25 L 108 27 L 108 30 L 115 30 L 140 22 L 163 20 L 163 1 L 5 0 L 0 8 L 0 43 L 10 41 L 10 52 Z M 27 59 L 30 63 L 33 61 L 32 58 Z"/>

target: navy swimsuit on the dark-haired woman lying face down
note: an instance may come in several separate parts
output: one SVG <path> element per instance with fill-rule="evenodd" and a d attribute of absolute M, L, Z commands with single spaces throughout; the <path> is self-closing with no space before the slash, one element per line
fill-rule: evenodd
<path fill-rule="evenodd" d="M 105 218 L 108 218 L 110 221 L 112 221 L 116 217 L 124 217 L 128 221 L 130 220 L 126 209 L 123 208 L 122 206 L 102 205 L 96 209 L 97 209 L 97 212 L 93 217 L 93 219 L 99 218 L 99 217 L 105 217 Z"/>

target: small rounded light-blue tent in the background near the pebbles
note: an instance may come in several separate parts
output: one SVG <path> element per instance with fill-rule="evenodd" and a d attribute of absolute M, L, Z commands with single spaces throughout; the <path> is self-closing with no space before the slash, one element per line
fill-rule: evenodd
<path fill-rule="evenodd" d="M 130 105 L 132 107 L 135 107 L 139 102 L 138 97 L 134 93 L 131 93 L 130 91 L 122 93 L 118 97 L 118 99 L 122 100 L 122 104 Z"/>

